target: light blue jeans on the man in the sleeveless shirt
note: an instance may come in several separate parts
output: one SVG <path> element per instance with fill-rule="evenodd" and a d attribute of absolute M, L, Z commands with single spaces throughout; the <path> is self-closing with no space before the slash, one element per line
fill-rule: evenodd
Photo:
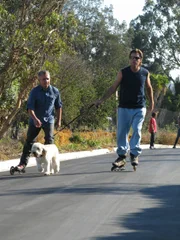
<path fill-rule="evenodd" d="M 146 108 L 118 108 L 117 154 L 125 155 L 130 150 L 134 156 L 141 154 L 141 129 L 146 115 Z M 132 127 L 130 142 L 128 134 Z"/>

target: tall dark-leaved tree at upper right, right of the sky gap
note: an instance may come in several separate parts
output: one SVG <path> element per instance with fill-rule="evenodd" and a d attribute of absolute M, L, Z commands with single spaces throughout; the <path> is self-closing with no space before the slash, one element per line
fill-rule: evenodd
<path fill-rule="evenodd" d="M 143 50 L 145 63 L 156 63 L 173 80 L 170 71 L 180 66 L 179 0 L 146 0 L 144 14 L 131 22 L 131 29 L 132 46 Z"/>

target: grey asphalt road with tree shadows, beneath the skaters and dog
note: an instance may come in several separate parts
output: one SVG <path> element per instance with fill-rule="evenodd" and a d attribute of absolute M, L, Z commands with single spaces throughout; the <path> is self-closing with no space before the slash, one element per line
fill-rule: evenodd
<path fill-rule="evenodd" d="M 179 240 L 180 150 L 144 150 L 137 172 L 110 172 L 115 157 L 0 173 L 0 239 Z"/>

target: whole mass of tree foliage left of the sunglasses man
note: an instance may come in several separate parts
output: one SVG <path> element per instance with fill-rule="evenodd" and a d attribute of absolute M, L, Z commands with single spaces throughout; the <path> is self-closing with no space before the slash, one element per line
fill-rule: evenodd
<path fill-rule="evenodd" d="M 0 138 L 17 122 L 42 68 L 50 71 L 52 84 L 61 91 L 63 124 L 110 87 L 117 71 L 128 63 L 132 35 L 113 18 L 112 8 L 101 4 L 100 0 L 1 1 Z M 106 124 L 108 116 L 115 119 L 114 99 L 70 128 L 94 129 Z"/>

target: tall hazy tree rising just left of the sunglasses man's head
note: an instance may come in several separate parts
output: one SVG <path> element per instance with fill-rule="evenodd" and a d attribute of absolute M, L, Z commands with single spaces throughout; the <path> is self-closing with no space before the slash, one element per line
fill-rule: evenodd
<path fill-rule="evenodd" d="M 112 8 L 102 8 L 100 0 L 68 1 L 66 14 L 77 18 L 78 27 L 73 48 L 93 73 L 96 97 L 101 97 L 116 78 L 120 68 L 128 64 L 132 34 L 127 34 L 125 24 L 113 18 Z M 93 116 L 95 127 L 107 122 L 108 116 L 116 115 L 115 96 L 108 100 Z M 91 120 L 92 121 L 92 120 Z"/>

